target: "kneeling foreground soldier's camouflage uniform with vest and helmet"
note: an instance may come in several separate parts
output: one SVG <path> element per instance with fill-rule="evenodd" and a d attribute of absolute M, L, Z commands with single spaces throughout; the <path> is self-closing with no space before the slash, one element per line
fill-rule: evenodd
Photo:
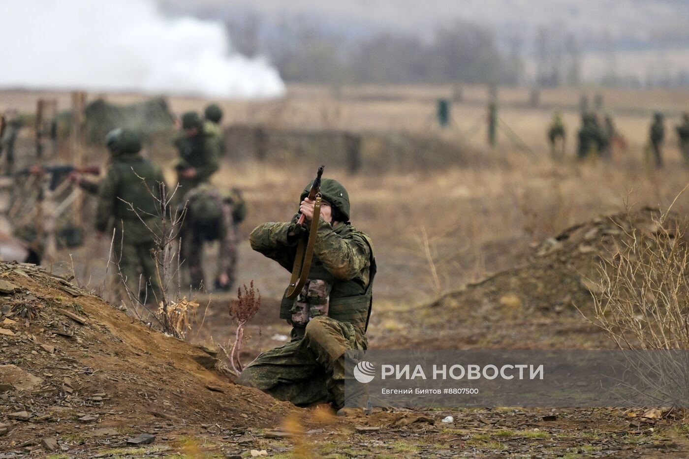
<path fill-rule="evenodd" d="M 333 221 L 341 223 L 333 227 L 320 219 L 309 283 L 297 300 L 289 300 L 286 294 L 282 298 L 280 318 L 292 325 L 292 339 L 260 354 L 237 382 L 298 406 L 332 402 L 340 408 L 345 405 L 343 355 L 348 349 L 368 346 L 365 333 L 376 261 L 369 236 L 349 223 L 345 188 L 323 179 L 321 192 L 331 204 Z M 298 236 L 292 235 L 294 222 L 256 227 L 249 236 L 251 247 L 291 270 L 298 243 Z M 310 304 L 310 320 L 300 320 L 305 303 Z M 327 315 L 322 309 L 326 304 Z"/>

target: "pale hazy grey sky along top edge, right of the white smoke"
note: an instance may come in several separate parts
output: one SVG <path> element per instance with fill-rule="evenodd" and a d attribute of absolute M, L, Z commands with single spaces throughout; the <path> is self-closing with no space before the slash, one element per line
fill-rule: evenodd
<path fill-rule="evenodd" d="M 688 0 L 162 0 L 187 8 L 254 10 L 276 19 L 299 15 L 327 27 L 360 33 L 389 28 L 429 34 L 435 26 L 465 19 L 501 37 L 529 40 L 540 26 L 575 32 L 584 42 L 689 41 Z M 193 5 L 193 6 L 192 6 Z M 340 32 L 342 31 L 340 30 Z"/>

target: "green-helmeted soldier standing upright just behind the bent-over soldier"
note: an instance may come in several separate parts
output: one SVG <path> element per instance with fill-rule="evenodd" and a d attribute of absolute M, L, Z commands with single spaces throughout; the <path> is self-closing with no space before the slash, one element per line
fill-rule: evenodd
<path fill-rule="evenodd" d="M 181 186 L 176 193 L 179 196 L 178 202 L 181 202 L 183 194 L 200 183 L 209 181 L 218 170 L 220 150 L 214 136 L 204 131 L 196 112 L 185 112 L 182 115 L 182 129 L 176 136 L 174 145 L 180 156 L 175 169 L 177 183 Z"/>

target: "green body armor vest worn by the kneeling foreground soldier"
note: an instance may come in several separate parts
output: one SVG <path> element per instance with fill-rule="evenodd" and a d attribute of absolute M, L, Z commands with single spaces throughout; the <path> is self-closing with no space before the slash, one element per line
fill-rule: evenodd
<path fill-rule="evenodd" d="M 373 254 L 373 244 L 369 236 L 354 230 L 346 230 L 340 236 L 347 236 L 356 232 L 369 245 L 371 251 L 371 265 L 369 266 L 369 283 L 366 287 L 356 281 L 340 281 L 325 269 L 323 263 L 316 256 L 313 256 L 311 269 L 309 269 L 309 280 L 325 281 L 330 287 L 329 292 L 329 312 L 328 316 L 340 322 L 351 323 L 358 327 L 362 332 L 366 332 L 371 316 L 371 306 L 373 304 L 373 278 L 376 276 L 376 257 Z M 280 303 L 280 318 L 291 319 L 291 309 L 294 300 L 287 298 L 287 294 L 282 296 Z"/>

